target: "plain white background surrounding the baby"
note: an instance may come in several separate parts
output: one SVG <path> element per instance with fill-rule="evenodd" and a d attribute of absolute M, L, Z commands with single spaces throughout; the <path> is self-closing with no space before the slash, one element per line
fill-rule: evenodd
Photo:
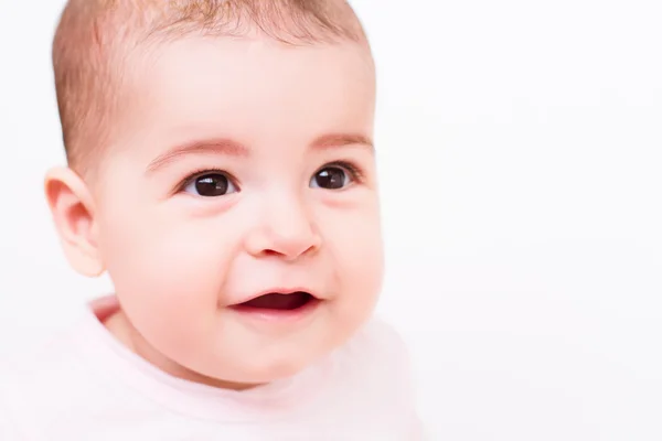
<path fill-rule="evenodd" d="M 0 0 L 0 351 L 110 290 L 67 267 L 63 0 Z M 662 7 L 355 0 L 388 275 L 434 440 L 662 440 Z"/>

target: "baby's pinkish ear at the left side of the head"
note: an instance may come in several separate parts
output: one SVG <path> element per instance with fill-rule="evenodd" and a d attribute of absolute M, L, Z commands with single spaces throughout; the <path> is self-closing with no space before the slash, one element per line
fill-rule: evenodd
<path fill-rule="evenodd" d="M 73 170 L 57 168 L 46 173 L 44 190 L 70 265 L 83 276 L 100 276 L 105 268 L 89 189 Z"/>

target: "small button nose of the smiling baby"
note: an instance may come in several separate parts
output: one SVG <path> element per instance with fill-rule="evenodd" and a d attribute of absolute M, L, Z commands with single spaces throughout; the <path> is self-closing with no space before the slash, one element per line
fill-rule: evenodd
<path fill-rule="evenodd" d="M 293 197 L 271 198 L 265 204 L 256 227 L 248 234 L 246 248 L 256 257 L 278 256 L 297 260 L 317 251 L 322 243 L 312 215 Z"/>

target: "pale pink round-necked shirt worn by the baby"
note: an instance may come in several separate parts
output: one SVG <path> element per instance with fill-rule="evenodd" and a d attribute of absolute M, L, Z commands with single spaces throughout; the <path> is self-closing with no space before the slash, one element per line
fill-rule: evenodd
<path fill-rule="evenodd" d="M 423 439 L 405 346 L 373 321 L 296 377 L 247 391 L 174 378 L 102 324 L 103 300 L 0 365 L 0 440 Z"/>

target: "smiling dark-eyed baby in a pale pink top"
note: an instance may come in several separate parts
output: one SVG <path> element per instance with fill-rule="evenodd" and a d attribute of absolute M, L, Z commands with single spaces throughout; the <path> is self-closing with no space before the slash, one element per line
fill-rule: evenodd
<path fill-rule="evenodd" d="M 71 0 L 53 60 L 47 202 L 115 294 L 2 366 L 0 439 L 420 439 L 350 6 Z"/>

